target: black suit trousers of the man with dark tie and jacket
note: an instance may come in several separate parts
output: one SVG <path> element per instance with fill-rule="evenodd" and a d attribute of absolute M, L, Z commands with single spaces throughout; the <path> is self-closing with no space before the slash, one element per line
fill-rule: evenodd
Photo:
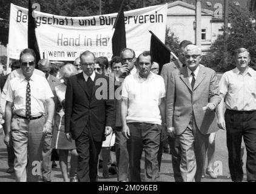
<path fill-rule="evenodd" d="M 81 135 L 75 139 L 78 153 L 77 176 L 79 182 L 96 182 L 98 176 L 98 158 L 101 142 L 94 141 L 89 127 L 85 127 Z"/>

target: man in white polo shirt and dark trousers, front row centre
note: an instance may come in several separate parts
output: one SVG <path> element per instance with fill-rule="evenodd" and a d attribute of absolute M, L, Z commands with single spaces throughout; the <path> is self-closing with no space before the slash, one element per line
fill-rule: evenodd
<path fill-rule="evenodd" d="M 160 145 L 161 123 L 165 121 L 164 80 L 150 72 L 149 52 L 138 57 L 135 75 L 124 79 L 121 102 L 123 135 L 127 138 L 130 181 L 140 182 L 140 159 L 145 151 L 146 181 L 156 181 L 157 153 Z"/>

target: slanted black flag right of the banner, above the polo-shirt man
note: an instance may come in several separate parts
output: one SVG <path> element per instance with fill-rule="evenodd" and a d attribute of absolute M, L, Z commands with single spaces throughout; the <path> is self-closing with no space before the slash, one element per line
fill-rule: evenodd
<path fill-rule="evenodd" d="M 161 72 L 163 65 L 170 62 L 171 50 L 152 31 L 149 32 L 151 33 L 150 55 L 152 61 L 159 64 L 159 72 Z"/>

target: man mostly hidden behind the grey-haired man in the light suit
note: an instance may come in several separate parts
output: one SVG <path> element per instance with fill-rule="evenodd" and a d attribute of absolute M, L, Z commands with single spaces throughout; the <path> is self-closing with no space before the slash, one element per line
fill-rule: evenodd
<path fill-rule="evenodd" d="M 174 70 L 177 70 L 177 69 L 180 69 L 181 67 L 186 66 L 186 59 L 184 57 L 185 48 L 189 44 L 192 44 L 192 42 L 187 40 L 181 41 L 178 60 L 169 62 L 163 65 L 163 68 L 161 70 L 161 76 L 164 78 L 164 85 L 166 87 L 166 91 L 167 91 L 167 83 L 168 83 L 168 78 L 170 73 L 172 73 Z M 168 142 L 170 146 L 170 152 L 172 153 L 172 169 L 173 169 L 174 179 L 176 182 L 182 182 L 183 179 L 180 174 L 180 144 L 176 138 L 172 138 L 170 136 L 168 136 Z M 161 153 L 158 153 L 158 162 L 160 162 L 162 158 L 163 151 L 161 151 L 161 147 L 163 146 L 160 146 Z"/>

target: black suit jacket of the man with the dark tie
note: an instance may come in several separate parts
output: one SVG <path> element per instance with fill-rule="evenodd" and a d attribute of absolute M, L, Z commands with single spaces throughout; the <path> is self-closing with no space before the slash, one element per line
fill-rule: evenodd
<path fill-rule="evenodd" d="M 98 94 L 103 87 L 102 83 L 95 83 L 102 81 L 104 89 L 107 87 L 107 99 L 96 99 L 95 92 Z M 109 99 L 109 78 L 96 73 L 92 96 L 89 96 L 83 73 L 72 76 L 67 81 L 65 99 L 65 132 L 71 132 L 73 139 L 77 139 L 89 125 L 93 139 L 104 141 L 105 127 L 115 127 L 115 100 Z"/>

